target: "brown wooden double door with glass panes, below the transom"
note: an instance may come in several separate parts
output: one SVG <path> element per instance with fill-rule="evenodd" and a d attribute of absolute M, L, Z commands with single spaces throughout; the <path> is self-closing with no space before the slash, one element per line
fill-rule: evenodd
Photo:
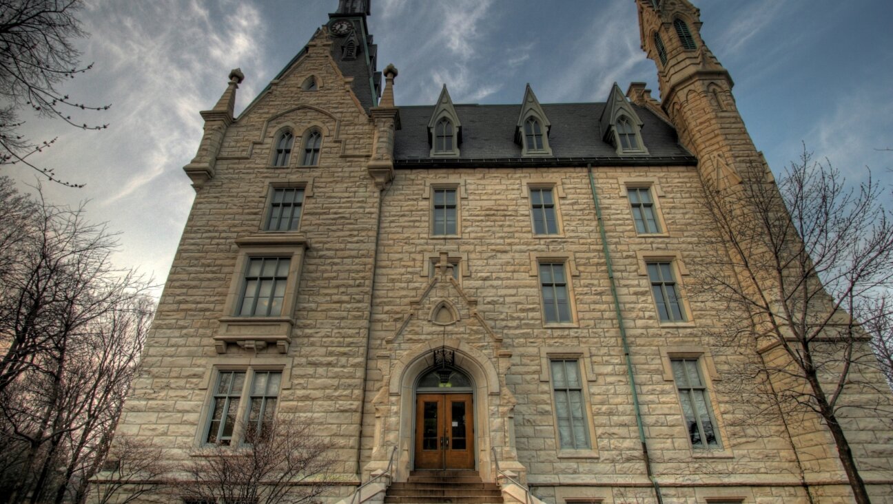
<path fill-rule="evenodd" d="M 473 469 L 470 393 L 419 393 L 415 398 L 415 468 Z"/>

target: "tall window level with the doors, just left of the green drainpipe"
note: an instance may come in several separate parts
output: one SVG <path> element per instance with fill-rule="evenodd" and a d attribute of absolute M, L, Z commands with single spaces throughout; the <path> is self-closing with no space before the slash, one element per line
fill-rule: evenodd
<path fill-rule="evenodd" d="M 587 450 L 589 428 L 584 409 L 580 366 L 576 359 L 552 360 L 550 366 L 560 446 L 562 450 Z"/>

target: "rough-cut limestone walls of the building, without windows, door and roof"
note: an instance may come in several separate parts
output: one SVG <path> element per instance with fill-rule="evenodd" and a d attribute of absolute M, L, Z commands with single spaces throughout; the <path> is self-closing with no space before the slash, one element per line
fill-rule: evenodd
<path fill-rule="evenodd" d="M 314 434 L 336 446 L 342 484 L 328 498 L 335 502 L 388 467 L 392 454 L 394 481 L 416 468 L 418 379 L 438 368 L 433 351 L 443 349 L 472 382 L 469 445 L 485 481 L 497 480 L 498 466 L 548 503 L 650 503 L 657 501 L 650 468 L 666 503 L 807 502 L 806 485 L 817 501 L 849 501 L 830 434 L 812 417 L 767 415 L 771 404 L 754 400 L 762 384 L 735 374 L 759 358 L 756 350 L 717 342 L 722 304 L 689 295 L 698 266 L 724 253 L 706 246 L 716 230 L 701 175 L 733 179 L 763 161 L 735 110 L 728 72 L 699 38 L 697 10 L 664 0 L 660 13 L 650 0 L 637 1 L 649 57 L 658 58 L 649 30 L 671 33 L 672 20 L 661 16 L 674 9 L 688 16 L 700 47 L 676 57 L 665 35 L 675 66 L 659 70 L 663 103 L 638 83 L 626 94 L 639 115 L 672 124 L 679 149 L 690 153 L 673 161 L 651 148 L 653 162 L 564 163 L 553 142 L 555 159 L 541 163 L 401 162 L 395 145 L 412 125 L 394 103 L 396 70 L 385 70 L 379 103 L 372 79 L 368 103 L 356 92 L 364 84 L 339 66 L 333 47 L 340 42 L 329 27 L 238 118 L 232 103 L 243 77 L 234 71 L 221 102 L 203 112 L 204 139 L 186 167 L 196 200 L 118 434 L 188 460 L 209 440 L 222 372 L 245 371 L 248 380 L 279 372 L 276 414 L 312 422 Z M 354 12 L 365 27 L 362 12 L 342 7 L 345 16 L 334 19 Z M 287 128 L 295 136 L 290 158 L 274 166 Z M 466 128 L 455 150 L 472 144 Z M 314 131 L 319 161 L 304 166 Z M 299 226 L 266 231 L 281 188 L 303 190 Z M 637 231 L 631 188 L 653 198 L 658 231 Z M 535 234 L 531 189 L 554 196 L 557 232 Z M 435 231 L 438 190 L 455 195 L 453 233 Z M 263 258 L 288 259 L 281 309 L 239 315 L 249 263 Z M 669 265 L 682 319 L 659 316 L 649 274 L 655 263 Z M 544 312 L 544 264 L 563 271 L 568 297 L 567 317 L 554 322 Z M 693 446 L 680 403 L 674 367 L 683 359 L 697 366 L 709 401 L 718 441 L 706 449 Z M 566 392 L 582 401 L 572 447 L 562 447 L 556 407 L 565 392 L 552 367 L 562 361 L 580 377 Z M 247 415 L 244 401 L 234 414 Z M 857 462 L 874 501 L 893 502 L 889 418 L 858 415 L 846 426 Z"/>

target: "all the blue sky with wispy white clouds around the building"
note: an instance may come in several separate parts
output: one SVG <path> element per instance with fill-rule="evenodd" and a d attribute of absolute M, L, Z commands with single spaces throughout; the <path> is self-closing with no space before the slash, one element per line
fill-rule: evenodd
<path fill-rule="evenodd" d="M 35 139 L 59 136 L 34 158 L 72 182 L 44 183 L 52 202 L 88 203 L 89 218 L 121 232 L 121 267 L 163 281 L 194 197 L 182 167 L 209 109 L 240 67 L 246 106 L 328 20 L 337 0 L 88 0 L 92 34 L 78 41 L 93 70 L 66 84 L 107 112 L 76 117 L 101 132 L 30 118 Z M 735 80 L 739 111 L 776 173 L 802 152 L 827 157 L 851 181 L 865 166 L 893 181 L 893 2 L 696 0 L 702 36 Z M 616 81 L 647 82 L 655 64 L 638 39 L 634 0 L 372 0 L 380 68 L 393 62 L 397 104 L 433 103 L 443 83 L 455 103 L 519 103 L 530 83 L 541 103 L 604 101 Z M 34 185 L 32 173 L 2 173 Z M 891 198 L 886 196 L 890 208 Z"/>

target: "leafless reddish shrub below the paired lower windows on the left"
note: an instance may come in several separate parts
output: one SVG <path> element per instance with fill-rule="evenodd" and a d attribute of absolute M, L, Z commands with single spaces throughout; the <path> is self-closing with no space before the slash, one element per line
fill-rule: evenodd
<path fill-rule="evenodd" d="M 194 461 L 179 467 L 176 492 L 205 502 L 300 504 L 335 483 L 330 442 L 314 435 L 311 424 L 280 417 L 263 428 L 263 434 L 249 434 L 242 446 L 200 450 Z"/>

